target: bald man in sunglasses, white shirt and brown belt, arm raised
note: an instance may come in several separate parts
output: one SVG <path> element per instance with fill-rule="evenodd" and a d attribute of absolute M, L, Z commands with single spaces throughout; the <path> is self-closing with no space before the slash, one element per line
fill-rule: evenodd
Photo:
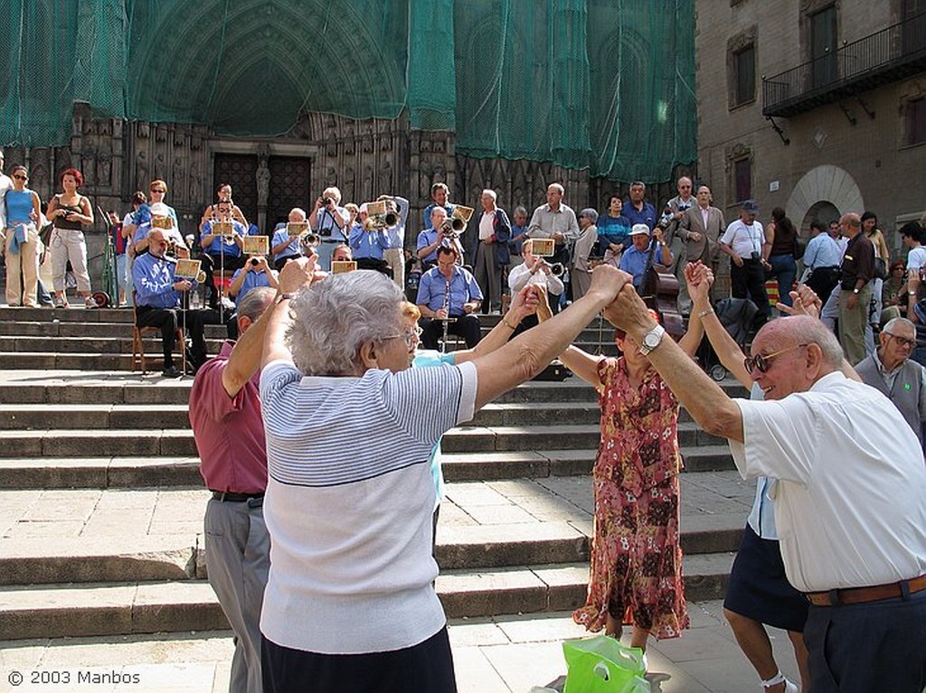
<path fill-rule="evenodd" d="M 810 316 L 761 328 L 746 367 L 765 401 L 732 400 L 626 287 L 605 311 L 708 433 L 730 440 L 743 476 L 775 480 L 788 581 L 810 602 L 814 693 L 926 687 L 926 466 L 877 390 L 841 372 L 843 351 Z"/>

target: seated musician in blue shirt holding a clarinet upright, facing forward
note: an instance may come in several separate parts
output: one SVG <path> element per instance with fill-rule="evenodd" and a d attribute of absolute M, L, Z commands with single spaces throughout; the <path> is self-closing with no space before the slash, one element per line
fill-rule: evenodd
<path fill-rule="evenodd" d="M 421 343 L 426 349 L 438 348 L 444 325 L 449 334 L 466 340 L 468 349 L 482 339 L 479 318 L 474 315 L 482 305 L 482 291 L 476 279 L 457 265 L 458 258 L 455 248 L 442 245 L 437 249 L 437 266 L 421 275 L 416 303 L 424 330 Z M 444 323 L 444 318 L 452 321 Z"/>

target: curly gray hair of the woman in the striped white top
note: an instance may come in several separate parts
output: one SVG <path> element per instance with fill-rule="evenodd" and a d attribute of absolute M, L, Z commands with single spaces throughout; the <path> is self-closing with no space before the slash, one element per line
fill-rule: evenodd
<path fill-rule="evenodd" d="M 299 291 L 285 336 L 295 367 L 307 376 L 351 373 L 364 342 L 402 334 L 403 298 L 391 279 L 371 269 L 332 275 Z"/>

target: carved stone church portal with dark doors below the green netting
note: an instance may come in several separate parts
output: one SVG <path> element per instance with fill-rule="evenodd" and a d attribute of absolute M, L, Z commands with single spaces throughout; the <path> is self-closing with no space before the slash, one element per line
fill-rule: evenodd
<path fill-rule="evenodd" d="M 618 190 L 626 195 L 631 181 L 594 179 L 587 170 L 548 162 L 472 158 L 458 155 L 449 131 L 414 130 L 404 116 L 394 120 L 356 120 L 331 114 L 306 114 L 285 136 L 224 137 L 202 126 L 94 118 L 85 105 L 75 105 L 69 146 L 8 146 L 6 168 L 30 169 L 30 187 L 43 202 L 60 192 L 57 178 L 67 167 L 81 170 L 86 195 L 94 209 L 113 209 L 122 216 L 129 200 L 148 183 L 168 184 L 166 201 L 177 210 L 181 232 L 196 233 L 219 183 L 232 184 L 236 204 L 264 231 L 284 220 L 294 206 L 309 209 L 319 193 L 336 185 L 346 203 L 375 200 L 383 192 L 409 199 L 411 211 L 406 245 L 414 249 L 421 214 L 431 204 L 432 183 L 446 182 L 451 200 L 479 207 L 482 190 L 498 193 L 509 214 L 518 205 L 529 214 L 545 202 L 546 186 L 559 181 L 565 201 L 577 211 L 585 206 L 607 208 Z M 678 167 L 679 175 L 690 173 Z M 260 181 L 264 181 L 263 184 Z M 674 183 L 651 186 L 648 199 L 662 204 L 675 194 Z M 102 220 L 88 229 L 91 277 L 100 276 Z"/>

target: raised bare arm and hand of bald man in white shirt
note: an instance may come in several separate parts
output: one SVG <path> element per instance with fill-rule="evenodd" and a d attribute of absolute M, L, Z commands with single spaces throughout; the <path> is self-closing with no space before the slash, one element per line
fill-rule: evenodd
<path fill-rule="evenodd" d="M 607 307 L 605 316 L 638 343 L 642 343 L 646 332 L 656 326 L 643 299 L 632 286 L 622 287 L 618 298 Z M 700 427 L 711 435 L 743 442 L 740 408 L 678 344 L 663 337 L 648 358 Z"/>

